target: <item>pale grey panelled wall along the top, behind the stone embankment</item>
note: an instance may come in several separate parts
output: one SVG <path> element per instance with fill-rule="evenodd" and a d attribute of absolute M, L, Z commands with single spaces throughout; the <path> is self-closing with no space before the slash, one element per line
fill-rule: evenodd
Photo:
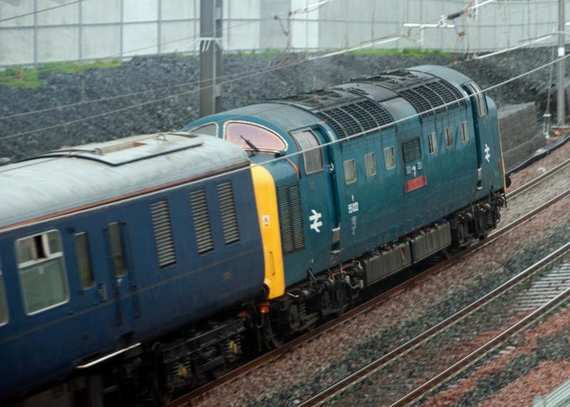
<path fill-rule="evenodd" d="M 0 0 L 0 20 L 70 0 Z M 195 51 L 200 0 L 85 0 L 0 22 L 0 66 L 81 61 L 175 51 Z M 435 23 L 465 0 L 224 0 L 227 51 L 293 48 L 338 49 L 403 31 L 405 23 Z M 309 12 L 301 11 L 309 6 Z M 517 46 L 556 29 L 554 0 L 497 0 L 456 29 L 425 29 L 425 48 L 489 51 Z M 297 10 L 288 16 L 288 11 Z M 566 15 L 570 9 L 567 8 Z M 279 19 L 274 19 L 276 14 Z M 286 34 L 287 33 L 287 34 Z M 418 29 L 378 47 L 420 44 Z M 537 45 L 554 44 L 549 38 Z"/>

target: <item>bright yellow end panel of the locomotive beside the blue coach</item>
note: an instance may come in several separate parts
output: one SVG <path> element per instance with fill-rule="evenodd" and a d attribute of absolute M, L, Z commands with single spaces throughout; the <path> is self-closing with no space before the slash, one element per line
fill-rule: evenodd
<path fill-rule="evenodd" d="M 269 287 L 268 299 L 285 294 L 283 252 L 279 231 L 277 194 L 271 173 L 261 165 L 252 167 L 255 202 L 265 260 L 265 284 Z"/>

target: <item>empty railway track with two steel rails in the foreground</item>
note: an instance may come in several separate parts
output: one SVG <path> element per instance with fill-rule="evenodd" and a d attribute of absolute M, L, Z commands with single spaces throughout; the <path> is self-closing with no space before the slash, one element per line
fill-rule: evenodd
<path fill-rule="evenodd" d="M 520 309 L 507 309 L 504 306 L 502 308 L 497 306 L 497 310 L 493 315 L 493 319 L 497 319 L 498 315 L 501 314 L 499 315 L 500 318 L 513 319 L 513 317 L 515 317 L 517 318 L 517 322 L 509 326 L 508 329 L 502 330 L 499 334 L 494 336 L 491 340 L 485 342 L 482 346 L 477 347 L 476 344 L 470 343 L 469 339 L 466 340 L 465 336 L 462 336 L 462 334 L 465 334 L 465 332 L 462 332 L 461 329 L 457 329 L 456 332 L 447 332 L 447 336 L 445 338 L 447 340 L 445 341 L 437 338 L 438 335 L 445 334 L 445 331 L 449 331 L 452 326 L 460 323 L 460 321 L 465 322 L 465 319 L 475 314 L 475 312 L 481 311 L 484 306 L 487 306 L 491 302 L 496 301 L 499 296 L 509 293 L 512 289 L 514 289 L 514 287 L 517 287 L 520 283 L 524 282 L 529 277 L 532 277 L 534 274 L 537 274 L 543 270 L 546 265 L 569 253 L 570 242 L 564 244 L 559 249 L 556 249 L 556 251 L 539 260 L 539 262 L 533 264 L 531 267 L 524 269 L 524 271 L 520 272 L 512 279 L 509 279 L 507 282 L 497 287 L 492 292 L 489 292 L 484 297 L 481 297 L 476 302 L 473 302 L 469 306 L 466 306 L 464 309 L 461 309 L 449 318 L 433 326 L 431 329 L 423 332 L 423 334 L 420 334 L 402 346 L 399 346 L 397 349 L 394 349 L 393 351 L 390 351 L 390 353 L 385 354 L 376 361 L 373 361 L 371 364 L 368 364 L 368 366 L 363 367 L 363 369 L 356 371 L 351 376 L 344 378 L 342 381 L 339 381 L 321 393 L 316 394 L 304 403 L 299 404 L 299 406 L 318 406 L 336 396 L 338 396 L 338 398 L 341 398 L 340 403 L 342 405 L 352 405 L 353 403 L 362 404 L 361 401 L 363 400 L 361 398 L 358 398 L 358 396 L 363 397 L 362 394 L 358 396 L 348 395 L 348 401 L 346 401 L 345 398 L 342 398 L 342 393 L 345 391 L 350 391 L 351 388 L 353 388 L 356 384 L 361 383 L 367 378 L 368 381 L 372 383 L 369 387 L 378 390 L 378 393 L 381 393 L 382 397 L 382 400 L 378 400 L 378 398 L 375 398 L 375 396 L 379 395 L 375 393 L 366 394 L 368 403 L 371 403 L 371 405 L 388 404 L 394 407 L 405 406 L 409 403 L 412 403 L 413 401 L 418 400 L 418 398 L 427 393 L 427 391 L 432 390 L 442 382 L 446 381 L 452 376 L 455 376 L 455 374 L 457 374 L 459 371 L 465 369 L 467 366 L 470 366 L 481 356 L 487 354 L 488 351 L 494 349 L 495 346 L 502 344 L 502 342 L 512 336 L 512 334 L 515 332 L 519 331 L 519 329 L 522 329 L 524 326 L 527 326 L 533 321 L 536 321 L 547 311 L 563 302 L 564 299 L 570 298 L 570 279 L 567 278 L 567 273 L 570 270 L 570 263 L 566 263 L 562 264 L 561 267 L 547 273 L 544 277 L 537 279 L 537 282 L 543 282 L 549 281 L 549 279 L 551 279 L 553 276 L 561 277 L 558 279 L 556 284 L 557 292 L 554 293 L 554 290 L 551 290 L 552 292 L 548 297 L 543 297 L 542 300 L 532 306 L 532 308 L 527 307 L 527 309 L 524 310 L 525 312 L 522 312 L 524 316 L 516 316 L 517 314 L 521 314 Z M 536 284 L 537 282 L 534 283 Z M 522 292 L 520 292 L 519 296 L 515 298 L 514 302 L 517 303 L 517 299 L 526 298 L 529 296 L 529 294 L 530 297 L 534 297 L 535 289 L 536 288 L 534 287 L 534 284 L 530 289 L 523 289 Z M 532 312 L 529 314 L 528 311 Z M 476 330 L 479 332 L 490 331 L 492 330 L 491 326 L 492 323 L 489 324 L 489 326 L 484 326 L 484 324 L 483 326 L 477 325 Z M 460 328 L 465 329 L 465 327 Z M 434 346 L 434 344 L 430 341 L 435 342 L 437 345 Z M 414 364 L 420 366 L 415 371 L 415 374 L 420 376 L 420 369 L 422 369 L 421 359 L 433 361 L 432 364 L 429 364 L 430 369 L 432 369 L 433 365 L 437 366 L 437 364 L 445 364 L 446 359 L 453 360 L 455 357 L 457 357 L 457 344 L 460 344 L 463 353 L 467 353 L 466 356 L 463 356 L 462 359 L 460 359 L 460 361 L 457 361 L 455 364 L 452 364 L 446 369 L 443 369 L 440 371 L 440 373 L 437 373 L 437 375 L 425 381 L 425 383 L 423 383 L 421 386 L 413 388 L 413 390 L 409 391 L 408 393 L 404 392 L 403 396 L 400 398 L 393 398 L 391 400 L 389 398 L 390 396 L 394 396 L 395 393 L 397 394 L 398 391 L 402 391 L 402 388 L 409 386 L 409 383 L 406 383 L 405 378 L 402 379 L 402 377 L 398 376 L 398 373 L 395 373 L 394 371 L 390 372 L 392 376 L 390 379 L 391 381 L 389 383 L 389 386 L 388 383 L 385 383 L 385 388 L 382 388 L 382 386 L 374 381 L 374 376 L 376 376 L 376 379 L 378 379 L 378 376 L 383 372 L 384 369 L 387 369 L 388 366 L 395 364 L 395 362 L 403 361 L 403 359 L 405 359 L 405 361 L 402 362 L 403 364 L 410 364 L 410 361 L 413 360 Z M 473 350 L 465 351 L 465 348 Z M 446 357 L 446 349 L 447 352 L 452 352 L 452 355 Z M 434 356 L 437 358 L 437 361 L 434 359 Z M 402 376 L 405 376 L 406 373 L 407 371 L 403 369 Z M 418 376 L 413 378 L 413 380 L 417 380 Z M 400 387 L 398 388 L 398 385 L 395 385 L 394 381 L 398 381 L 399 379 L 402 379 L 402 381 L 399 382 Z M 389 390 L 387 390 L 387 388 L 389 388 Z"/>

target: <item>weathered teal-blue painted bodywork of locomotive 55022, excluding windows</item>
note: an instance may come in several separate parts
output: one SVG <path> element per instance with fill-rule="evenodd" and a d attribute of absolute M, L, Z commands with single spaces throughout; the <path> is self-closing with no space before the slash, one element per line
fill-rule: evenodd
<path fill-rule="evenodd" d="M 504 189 L 497 108 L 492 100 L 487 98 L 488 113 L 479 118 L 472 108 L 475 102 L 468 99 L 465 89 L 465 84 L 471 81 L 467 76 L 438 66 L 418 66 L 407 71 L 425 78 L 425 81 L 442 78 L 455 87 L 465 101 L 459 107 L 444 108 L 445 111 L 435 115 L 420 117 L 414 106 L 400 96 L 398 89 L 372 84 L 365 78 L 336 86 L 333 90 L 350 92 L 358 97 L 364 94 L 364 98 L 384 108 L 395 125 L 386 126 L 381 131 L 371 131 L 353 140 L 333 143 L 341 135 L 336 134 L 334 128 L 311 112 L 310 108 L 305 108 L 303 103 L 296 103 L 303 98 L 310 99 L 311 93 L 273 104 L 229 110 L 187 126 L 187 129 L 196 129 L 207 123 L 217 123 L 217 135 L 224 138 L 224 125 L 232 120 L 263 125 L 286 140 L 289 148 L 285 155 L 296 153 L 290 135 L 295 130 L 310 128 L 321 145 L 328 144 L 322 148 L 326 164 L 322 172 L 306 175 L 303 159 L 296 155 L 289 157 L 289 162 L 281 160 L 267 165 L 276 187 L 296 182 L 301 187 L 306 246 L 284 255 L 287 287 L 306 279 L 308 269 L 322 272 L 338 262 L 347 261 L 437 222 L 445 215 L 487 197 L 492 191 Z M 341 103 L 343 101 L 339 98 L 338 104 Z M 462 121 L 468 123 L 469 139 L 466 142 L 460 140 Z M 451 148 L 445 146 L 444 131 L 447 127 L 452 128 L 454 138 Z M 437 133 L 438 150 L 430 154 L 428 134 L 433 131 Z M 423 168 L 418 168 L 415 174 L 406 175 L 402 144 L 418 137 Z M 387 170 L 383 150 L 390 146 L 394 148 L 396 165 L 394 169 Z M 367 153 L 375 153 L 377 168 L 377 173 L 368 178 L 364 168 L 364 155 Z M 257 153 L 251 159 L 261 163 L 274 157 Z M 356 162 L 358 180 L 346 185 L 343 162 L 351 159 Z M 479 167 L 480 175 L 477 171 Z M 296 168 L 299 168 L 299 175 Z M 427 185 L 406 193 L 405 182 L 421 175 L 427 177 Z M 357 205 L 354 205 L 355 202 Z M 323 225 L 318 232 L 311 229 L 312 210 L 322 215 Z M 335 244 L 332 231 L 336 227 L 341 228 L 341 239 Z M 333 255 L 337 251 L 340 252 Z"/>

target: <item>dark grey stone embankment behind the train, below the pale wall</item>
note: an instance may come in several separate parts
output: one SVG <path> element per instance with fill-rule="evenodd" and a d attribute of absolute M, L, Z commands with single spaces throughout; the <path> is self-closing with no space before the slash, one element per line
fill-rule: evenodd
<path fill-rule="evenodd" d="M 459 57 L 434 55 L 424 58 L 405 55 L 343 55 L 273 69 L 262 75 L 243 74 L 291 65 L 301 58 L 305 56 L 224 56 L 224 75 L 233 75 L 228 78 L 232 82 L 226 83 L 222 88 L 224 110 L 343 83 L 349 78 L 368 75 L 374 71 L 423 64 L 449 65 L 456 62 L 452 68 L 474 78 L 482 88 L 487 88 L 546 63 L 551 58 L 551 49 L 512 51 L 468 62 Z M 44 83 L 36 89 L 0 86 L 0 157 L 19 159 L 62 145 L 80 145 L 90 141 L 182 128 L 198 117 L 198 62 L 195 57 L 137 57 L 123 63 L 120 68 L 90 69 L 76 74 L 43 72 L 41 78 Z M 570 65 L 567 69 L 570 73 Z M 546 91 L 547 82 L 548 70 L 545 69 L 493 89 L 489 95 L 499 107 L 534 102 Z M 150 89 L 157 90 L 149 91 Z M 137 92 L 139 94 L 115 98 Z M 100 98 L 112 99 L 87 103 Z M 8 115 L 70 103 L 81 104 L 5 118 Z M 140 105 L 141 103 L 145 104 Z M 135 105 L 140 106 L 128 108 Z M 552 108 L 555 108 L 554 105 Z M 105 114 L 118 109 L 122 110 Z M 96 117 L 89 118 L 91 116 Z M 83 120 L 84 118 L 89 119 Z M 61 123 L 69 124 L 33 131 Z M 31 131 L 26 135 L 14 136 Z"/>

